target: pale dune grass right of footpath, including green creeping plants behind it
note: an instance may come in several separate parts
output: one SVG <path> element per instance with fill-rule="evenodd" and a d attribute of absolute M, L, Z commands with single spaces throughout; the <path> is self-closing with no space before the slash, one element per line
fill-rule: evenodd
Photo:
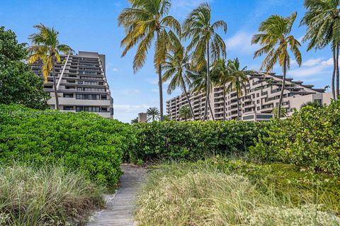
<path fill-rule="evenodd" d="M 280 173 L 276 167 L 163 164 L 149 174 L 135 219 L 138 225 L 340 225 L 336 192 L 315 187 L 294 167 L 281 165 Z"/>

